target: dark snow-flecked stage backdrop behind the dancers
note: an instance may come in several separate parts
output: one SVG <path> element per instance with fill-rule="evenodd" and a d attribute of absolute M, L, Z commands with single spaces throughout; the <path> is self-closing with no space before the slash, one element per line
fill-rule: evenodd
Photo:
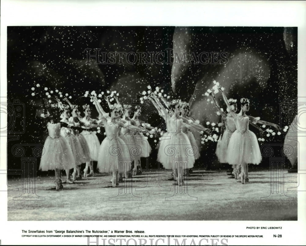
<path fill-rule="evenodd" d="M 79 107 L 90 103 L 88 98 L 81 97 L 85 91 L 117 90 L 121 103 L 130 103 L 140 98 L 147 85 L 159 86 L 171 99 L 188 101 L 191 116 L 205 125 L 206 121 L 220 122 L 215 106 L 203 96 L 216 80 L 225 87 L 229 98 L 250 99 L 249 115 L 285 126 L 295 114 L 292 107 L 297 102 L 295 27 L 34 26 L 8 27 L 7 37 L 8 169 L 21 169 L 17 144 L 27 146 L 23 156 L 30 157 L 35 145 L 43 145 L 47 137 L 46 122 L 37 117 L 42 112 L 40 100 L 31 96 L 31 88 L 37 83 L 42 88 L 69 93 L 73 96 L 72 103 Z M 92 49 L 90 54 L 94 54 L 94 49 L 106 53 L 152 52 L 156 55 L 162 52 L 166 63 L 133 63 L 131 56 L 128 61 L 116 60 L 114 64 L 86 65 L 85 49 Z M 186 52 L 190 64 L 173 64 L 174 52 L 179 55 Z M 196 64 L 196 56 L 191 59 L 192 53 L 201 52 L 209 54 L 208 64 Z M 222 52 L 226 53 L 225 60 L 218 59 Z M 214 56 L 216 60 L 212 59 Z M 220 93 L 216 98 L 226 109 Z M 280 113 L 283 103 L 289 105 L 290 114 Z M 102 106 L 107 107 L 105 102 Z M 97 117 L 94 107 L 92 117 Z M 147 117 L 152 126 L 162 122 L 156 112 L 142 117 Z M 259 137 L 256 129 L 250 129 Z M 98 137 L 103 140 L 103 131 Z M 263 144 L 281 145 L 284 133 L 266 139 Z M 148 167 L 155 169 L 159 167 L 157 143 L 150 138 L 149 143 L 153 153 L 148 158 Z M 200 140 L 198 143 L 201 146 Z M 223 168 L 216 160 L 215 148 L 216 143 L 202 145 L 201 157 L 195 166 Z M 279 155 L 280 149 L 276 147 L 274 154 Z M 37 169 L 39 161 L 37 157 Z M 143 168 L 144 163 L 145 160 Z M 268 166 L 267 158 L 263 158 L 256 168 Z"/>

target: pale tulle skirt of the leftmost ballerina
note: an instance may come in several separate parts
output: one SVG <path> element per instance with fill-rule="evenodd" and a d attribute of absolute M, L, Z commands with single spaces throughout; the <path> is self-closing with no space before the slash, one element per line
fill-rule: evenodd
<path fill-rule="evenodd" d="M 39 169 L 42 171 L 57 169 L 71 169 L 76 166 L 72 150 L 62 137 L 47 137 Z"/>

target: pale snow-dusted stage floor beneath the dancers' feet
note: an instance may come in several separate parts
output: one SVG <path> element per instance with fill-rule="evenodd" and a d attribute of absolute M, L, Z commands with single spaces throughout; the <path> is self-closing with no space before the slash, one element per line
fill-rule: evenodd
<path fill-rule="evenodd" d="M 25 180 L 24 190 L 21 178 L 9 179 L 7 219 L 297 220 L 296 173 L 249 172 L 245 184 L 228 177 L 226 170 L 195 169 L 179 187 L 171 171 L 143 171 L 112 188 L 111 176 L 97 174 L 59 191 L 54 176 L 37 177 L 35 186 Z"/>

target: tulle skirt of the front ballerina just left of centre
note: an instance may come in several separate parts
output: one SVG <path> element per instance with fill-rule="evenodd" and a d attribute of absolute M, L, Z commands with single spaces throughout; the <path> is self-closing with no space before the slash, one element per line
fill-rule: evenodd
<path fill-rule="evenodd" d="M 119 137 L 113 139 L 106 137 L 99 149 L 97 169 L 99 172 L 112 172 L 119 168 L 121 172 L 131 169 L 129 148 Z"/>

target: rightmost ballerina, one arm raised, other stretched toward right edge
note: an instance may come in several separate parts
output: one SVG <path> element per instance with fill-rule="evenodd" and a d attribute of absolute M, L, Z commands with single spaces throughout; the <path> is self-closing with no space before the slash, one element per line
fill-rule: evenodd
<path fill-rule="evenodd" d="M 254 124 L 260 123 L 264 125 L 271 125 L 276 129 L 279 129 L 279 126 L 267 121 L 262 121 L 259 117 L 254 118 L 246 115 L 246 112 L 249 110 L 250 103 L 247 98 L 241 98 L 241 110 L 238 114 L 236 114 L 233 111 L 234 106 L 230 105 L 224 91 L 222 91 L 220 88 L 219 90 L 222 92 L 223 99 L 228 107 L 228 111 L 233 116 L 236 125 L 236 130 L 233 132 L 227 146 L 226 161 L 230 165 L 241 166 L 240 179 L 241 183 L 244 184 L 245 181 L 248 182 L 248 164 L 258 165 L 262 160 L 256 135 L 254 132 L 248 129 L 249 122 L 251 121 Z"/>

